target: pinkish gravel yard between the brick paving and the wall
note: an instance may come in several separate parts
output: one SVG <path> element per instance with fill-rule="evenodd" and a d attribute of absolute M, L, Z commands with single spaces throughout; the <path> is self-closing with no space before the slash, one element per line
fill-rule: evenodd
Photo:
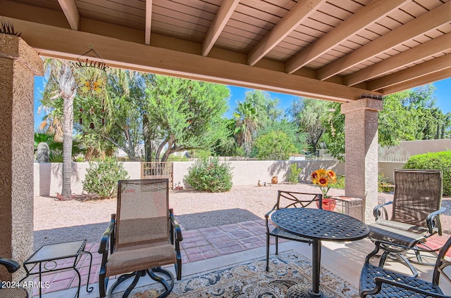
<path fill-rule="evenodd" d="M 241 221 L 264 219 L 275 203 L 278 190 L 315 193 L 316 186 L 309 183 L 275 184 L 273 186 L 234 186 L 227 193 L 199 193 L 195 190 L 171 190 L 169 205 L 185 230 L 234 224 Z M 329 195 L 344 195 L 345 190 L 330 189 Z M 379 193 L 381 201 L 390 200 L 392 194 Z M 445 231 L 451 228 L 451 200 L 442 216 Z M 45 244 L 87 239 L 98 242 L 108 226 L 116 200 L 59 201 L 56 197 L 35 197 L 35 249 Z"/>

